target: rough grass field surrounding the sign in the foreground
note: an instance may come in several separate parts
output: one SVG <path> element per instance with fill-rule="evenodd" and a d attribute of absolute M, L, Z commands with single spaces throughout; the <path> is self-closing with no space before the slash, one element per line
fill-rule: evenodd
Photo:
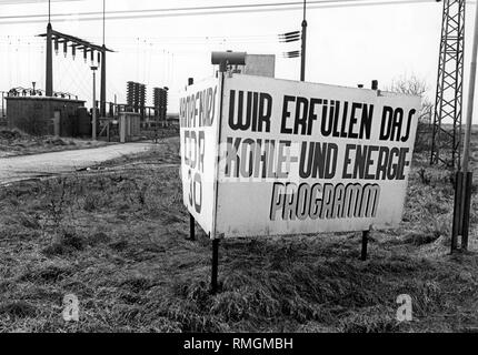
<path fill-rule="evenodd" d="M 478 331 L 477 183 L 469 253 L 449 255 L 450 174 L 417 154 L 404 222 L 372 232 L 368 261 L 358 233 L 228 240 L 211 295 L 178 149 L 0 190 L 0 332 Z M 67 323 L 71 293 L 80 321 Z M 396 320 L 400 294 L 411 322 Z"/>

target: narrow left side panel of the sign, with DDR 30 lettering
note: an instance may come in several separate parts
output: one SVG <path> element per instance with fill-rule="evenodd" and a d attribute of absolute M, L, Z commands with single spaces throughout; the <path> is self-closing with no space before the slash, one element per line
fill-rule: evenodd
<path fill-rule="evenodd" d="M 179 99 L 182 200 L 206 233 L 215 226 L 219 94 L 219 81 L 211 78 Z"/>

